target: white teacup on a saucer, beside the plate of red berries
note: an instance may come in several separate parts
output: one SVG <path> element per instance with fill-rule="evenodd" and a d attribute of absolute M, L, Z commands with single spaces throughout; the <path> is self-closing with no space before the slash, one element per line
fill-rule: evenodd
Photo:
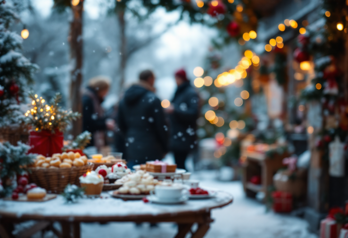
<path fill-rule="evenodd" d="M 160 200 L 179 200 L 183 196 L 184 187 L 182 185 L 163 186 L 157 185 L 154 191 L 150 191 L 151 195 L 158 197 Z"/>

